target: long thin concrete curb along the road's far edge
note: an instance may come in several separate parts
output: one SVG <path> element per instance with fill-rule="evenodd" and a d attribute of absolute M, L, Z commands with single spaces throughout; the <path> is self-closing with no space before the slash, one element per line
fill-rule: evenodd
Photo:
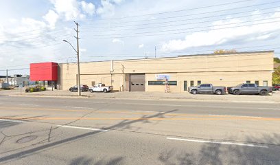
<path fill-rule="evenodd" d="M 116 98 L 115 96 L 100 97 L 98 96 L 43 96 L 43 95 L 8 95 L 10 97 L 40 97 L 40 98 L 87 98 L 87 99 L 116 99 L 116 100 L 171 100 L 178 102 L 242 102 L 242 103 L 265 103 L 265 104 L 280 104 L 276 101 L 244 101 L 244 100 L 209 100 L 209 99 L 194 99 L 194 98 L 166 98 L 166 97 L 148 97 L 148 98 Z"/>

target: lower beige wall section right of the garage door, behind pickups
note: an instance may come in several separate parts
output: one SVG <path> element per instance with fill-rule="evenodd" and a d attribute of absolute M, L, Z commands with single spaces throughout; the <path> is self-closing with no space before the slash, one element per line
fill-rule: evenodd
<path fill-rule="evenodd" d="M 231 87 L 240 83 L 250 83 L 259 81 L 259 85 L 264 85 L 264 80 L 268 81 L 268 85 L 272 85 L 271 72 L 212 72 L 212 73 L 178 73 L 169 74 L 170 81 L 177 81 L 177 85 L 170 85 L 171 92 L 184 92 L 184 81 L 187 81 L 187 87 L 190 87 L 191 80 L 194 85 L 198 85 L 198 80 L 201 83 L 211 83 L 215 86 Z M 146 74 L 146 90 L 147 91 L 165 91 L 164 85 L 148 85 L 148 81 L 155 81 L 155 74 Z"/>

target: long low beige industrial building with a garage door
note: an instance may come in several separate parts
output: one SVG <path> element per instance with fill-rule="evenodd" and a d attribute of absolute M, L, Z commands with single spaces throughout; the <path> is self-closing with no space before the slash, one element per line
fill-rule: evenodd
<path fill-rule="evenodd" d="M 186 92 L 191 85 L 212 83 L 234 86 L 240 83 L 272 85 L 274 51 L 198 54 L 169 58 L 80 63 L 81 85 L 104 83 L 117 91 L 165 91 L 169 78 L 171 92 Z M 58 89 L 77 84 L 77 64 L 58 68 Z"/>

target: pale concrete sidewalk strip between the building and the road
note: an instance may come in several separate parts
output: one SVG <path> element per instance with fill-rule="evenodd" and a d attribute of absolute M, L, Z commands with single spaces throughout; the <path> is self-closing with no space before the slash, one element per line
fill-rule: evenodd
<path fill-rule="evenodd" d="M 24 90 L 14 89 L 10 91 L 0 91 L 0 96 L 45 96 L 45 97 L 78 97 L 78 92 L 70 91 L 40 91 L 34 93 L 25 93 Z M 161 93 L 161 92 L 113 92 L 113 93 L 90 93 L 82 92 L 84 98 L 119 98 L 119 99 L 152 99 L 152 100 L 204 100 L 204 101 L 231 101 L 231 102 L 273 102 L 280 103 L 280 91 L 275 91 L 272 96 L 258 95 L 207 95 L 189 93 Z"/>

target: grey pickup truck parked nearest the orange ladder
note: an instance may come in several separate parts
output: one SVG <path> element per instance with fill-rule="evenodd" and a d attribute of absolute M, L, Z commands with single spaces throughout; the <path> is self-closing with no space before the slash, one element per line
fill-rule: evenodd
<path fill-rule="evenodd" d="M 211 84 L 201 84 L 195 87 L 189 87 L 191 94 L 225 94 L 226 87 L 213 87 Z"/>

